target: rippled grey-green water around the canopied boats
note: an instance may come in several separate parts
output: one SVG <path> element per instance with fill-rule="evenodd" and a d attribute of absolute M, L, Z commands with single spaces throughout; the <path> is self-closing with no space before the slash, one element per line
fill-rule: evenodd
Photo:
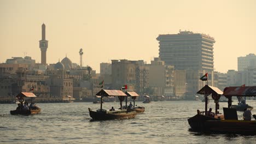
<path fill-rule="evenodd" d="M 236 101 L 233 103 L 237 103 Z M 201 101 L 153 101 L 136 118 L 90 122 L 88 107 L 100 104 L 37 104 L 39 115 L 10 115 L 16 104 L 0 104 L 0 143 L 255 143 L 256 136 L 201 134 L 190 131 L 188 118 L 204 111 Z M 256 100 L 247 100 L 256 107 Z M 104 103 L 103 109 L 119 103 Z M 220 107 L 226 103 L 220 103 Z M 213 101 L 210 107 L 214 108 Z M 213 109 L 214 110 L 214 109 Z M 222 112 L 222 110 L 220 110 Z M 256 110 L 252 110 L 256 114 Z M 242 118 L 242 112 L 238 112 Z"/>

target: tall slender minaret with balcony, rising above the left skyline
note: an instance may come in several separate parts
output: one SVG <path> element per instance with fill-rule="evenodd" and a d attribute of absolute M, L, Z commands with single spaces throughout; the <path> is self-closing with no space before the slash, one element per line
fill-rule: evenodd
<path fill-rule="evenodd" d="M 42 40 L 39 40 L 41 49 L 41 64 L 46 65 L 46 50 L 48 48 L 48 40 L 45 40 L 45 25 L 42 25 Z"/>

